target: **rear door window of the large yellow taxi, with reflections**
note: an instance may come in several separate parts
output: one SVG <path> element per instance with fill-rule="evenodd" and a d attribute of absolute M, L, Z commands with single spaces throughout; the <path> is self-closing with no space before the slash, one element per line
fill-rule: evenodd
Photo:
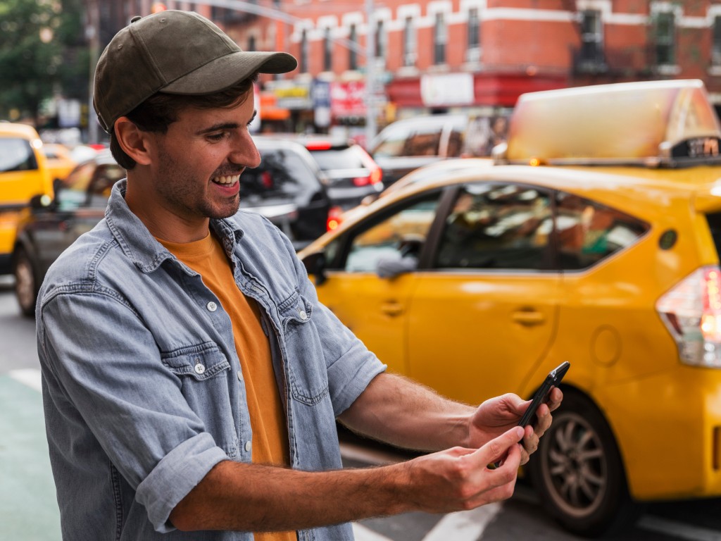
<path fill-rule="evenodd" d="M 446 217 L 436 268 L 549 270 L 549 193 L 492 183 L 459 190 Z"/>

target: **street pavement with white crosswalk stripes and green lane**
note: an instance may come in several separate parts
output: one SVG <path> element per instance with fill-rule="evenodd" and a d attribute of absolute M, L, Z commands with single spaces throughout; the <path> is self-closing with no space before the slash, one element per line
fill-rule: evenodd
<path fill-rule="evenodd" d="M 45 441 L 35 324 L 20 317 L 7 277 L 0 277 L 0 344 L 0 539 L 58 541 L 60 521 Z M 344 438 L 342 448 L 348 467 L 404 458 L 355 438 Z M 720 506 L 720 498 L 652 504 L 634 529 L 613 539 L 721 541 Z M 358 541 L 580 539 L 545 516 L 534 492 L 522 482 L 504 503 L 446 515 L 410 513 L 363 520 L 354 529 Z"/>

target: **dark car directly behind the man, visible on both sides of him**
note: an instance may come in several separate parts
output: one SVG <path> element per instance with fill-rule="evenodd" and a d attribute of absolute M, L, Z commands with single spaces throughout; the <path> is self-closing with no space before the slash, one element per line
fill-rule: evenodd
<path fill-rule="evenodd" d="M 241 209 L 266 216 L 299 249 L 327 230 L 330 203 L 325 177 L 301 144 L 265 138 L 256 144 L 261 164 L 240 177 Z M 99 151 L 66 177 L 55 201 L 32 198 L 12 250 L 15 294 L 23 314 L 34 315 L 37 291 L 48 268 L 105 216 L 110 189 L 123 177 L 125 170 L 110 151 Z"/>

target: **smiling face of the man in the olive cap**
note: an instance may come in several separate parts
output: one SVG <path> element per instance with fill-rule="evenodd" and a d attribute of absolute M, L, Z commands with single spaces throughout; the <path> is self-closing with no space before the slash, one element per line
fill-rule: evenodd
<path fill-rule="evenodd" d="M 254 116 L 251 91 L 234 107 L 182 110 L 167 133 L 151 134 L 148 195 L 167 219 L 194 224 L 236 213 L 240 174 L 260 164 L 248 129 Z"/>

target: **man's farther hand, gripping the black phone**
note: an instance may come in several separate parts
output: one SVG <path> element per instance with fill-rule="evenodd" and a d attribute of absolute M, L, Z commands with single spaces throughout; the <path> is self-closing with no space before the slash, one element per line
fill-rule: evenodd
<path fill-rule="evenodd" d="M 548 403 L 541 404 L 536 411 L 536 422 L 526 426 L 523 432 L 521 464 L 526 464 L 530 455 L 538 449 L 539 439 L 551 426 L 551 412 L 561 405 L 563 393 L 554 387 L 549 394 Z M 506 394 L 491 398 L 482 403 L 471 418 L 469 427 L 469 447 L 480 447 L 490 439 L 516 426 L 531 400 L 523 400 L 518 395 Z"/>

